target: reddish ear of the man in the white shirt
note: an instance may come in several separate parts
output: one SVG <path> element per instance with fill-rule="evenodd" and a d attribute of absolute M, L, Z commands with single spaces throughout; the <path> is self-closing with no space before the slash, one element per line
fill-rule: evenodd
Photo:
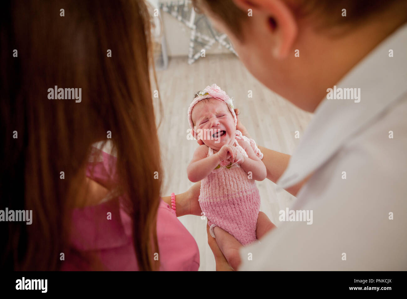
<path fill-rule="evenodd" d="M 284 0 L 233 0 L 243 11 L 252 9 L 252 17 L 266 18 L 265 22 L 270 34 L 277 37 L 273 55 L 276 58 L 286 58 L 293 54 L 293 43 L 298 34 L 298 23 L 291 8 Z"/>

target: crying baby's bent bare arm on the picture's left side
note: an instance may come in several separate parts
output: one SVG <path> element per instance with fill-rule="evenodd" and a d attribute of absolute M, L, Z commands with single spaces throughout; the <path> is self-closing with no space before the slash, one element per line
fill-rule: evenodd
<path fill-rule="evenodd" d="M 199 146 L 195 150 L 194 157 L 186 168 L 188 179 L 191 182 L 195 183 L 206 178 L 212 172 L 212 170 L 218 166 L 220 162 L 218 155 L 215 154 L 206 157 L 207 154 L 208 146 L 205 144 Z"/>

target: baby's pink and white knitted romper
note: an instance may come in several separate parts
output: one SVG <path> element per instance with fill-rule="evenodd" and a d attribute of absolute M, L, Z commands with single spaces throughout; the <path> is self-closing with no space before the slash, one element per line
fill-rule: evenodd
<path fill-rule="evenodd" d="M 247 153 L 237 140 L 235 140 L 235 146 L 242 155 L 247 157 Z M 213 155 L 212 148 L 209 148 L 207 157 L 210 155 Z M 249 179 L 239 164 L 228 168 L 229 161 L 226 161 L 201 180 L 199 205 L 208 217 L 212 237 L 214 237 L 213 228 L 219 226 L 242 245 L 247 245 L 257 239 L 256 225 L 260 211 L 260 194 L 256 181 Z"/>

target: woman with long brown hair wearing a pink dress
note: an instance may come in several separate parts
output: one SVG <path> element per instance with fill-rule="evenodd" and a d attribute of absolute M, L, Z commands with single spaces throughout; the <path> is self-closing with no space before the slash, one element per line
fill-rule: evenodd
<path fill-rule="evenodd" d="M 0 203 L 32 211 L 31 225 L 1 223 L 0 267 L 197 270 L 160 199 L 146 4 L 6 1 L 0 14 Z M 117 159 L 93 146 L 107 141 Z"/>

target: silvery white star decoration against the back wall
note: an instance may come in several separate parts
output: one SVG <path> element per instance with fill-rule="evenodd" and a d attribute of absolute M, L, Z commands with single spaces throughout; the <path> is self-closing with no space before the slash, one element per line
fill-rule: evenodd
<path fill-rule="evenodd" d="M 201 55 L 216 42 L 237 55 L 228 37 L 218 33 L 205 15 L 197 13 L 190 0 L 160 3 L 160 9 L 191 29 L 188 64 L 194 63 L 199 57 L 204 57 Z"/>

